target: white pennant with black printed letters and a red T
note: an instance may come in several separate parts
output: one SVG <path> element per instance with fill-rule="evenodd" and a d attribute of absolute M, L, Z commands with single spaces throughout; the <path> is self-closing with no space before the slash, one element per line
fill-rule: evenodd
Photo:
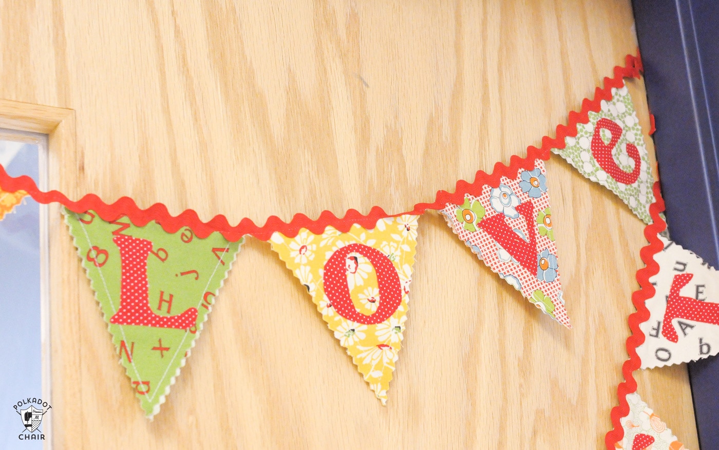
<path fill-rule="evenodd" d="M 649 278 L 656 292 L 639 325 L 645 341 L 637 347 L 641 368 L 696 361 L 719 353 L 719 273 L 696 254 L 658 236 L 654 254 L 659 273 Z"/>

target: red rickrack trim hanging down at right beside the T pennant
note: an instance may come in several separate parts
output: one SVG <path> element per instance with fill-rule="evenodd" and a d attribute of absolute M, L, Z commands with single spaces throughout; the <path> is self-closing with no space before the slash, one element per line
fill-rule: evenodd
<path fill-rule="evenodd" d="M 644 261 L 646 267 L 636 272 L 639 290 L 636 290 L 631 296 L 631 301 L 636 307 L 636 313 L 632 313 L 628 321 L 629 329 L 631 330 L 631 335 L 627 338 L 626 342 L 629 359 L 622 365 L 622 374 L 624 375 L 625 381 L 619 383 L 617 387 L 619 405 L 612 408 L 611 416 L 614 428 L 607 433 L 604 439 L 608 450 L 614 450 L 615 442 L 621 441 L 624 437 L 624 428 L 621 426 L 619 420 L 629 414 L 629 403 L 626 400 L 626 396 L 636 392 L 636 380 L 634 380 L 633 372 L 641 366 L 641 359 L 639 355 L 636 354 L 636 348 L 644 343 L 646 337 L 644 336 L 644 332 L 639 328 L 639 324 L 649 320 L 649 310 L 644 305 L 644 302 L 654 297 L 655 293 L 654 286 L 649 282 L 649 278 L 659 273 L 659 264 L 654 261 L 654 255 L 661 252 L 661 249 L 664 249 L 664 244 L 662 244 L 659 237 L 657 237 L 661 231 L 667 229 L 666 222 L 659 216 L 659 213 L 664 212 L 664 199 L 661 198 L 659 181 L 654 183 L 654 198 L 656 198 L 656 202 L 649 206 L 649 214 L 651 218 L 654 219 L 654 222 L 644 228 L 644 237 L 649 241 L 649 245 L 643 247 L 639 252 L 641 260 Z"/>

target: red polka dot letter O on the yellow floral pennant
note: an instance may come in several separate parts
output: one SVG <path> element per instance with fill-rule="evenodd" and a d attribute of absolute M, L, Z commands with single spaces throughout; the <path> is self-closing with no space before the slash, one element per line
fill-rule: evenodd
<path fill-rule="evenodd" d="M 380 306 L 367 316 L 357 311 L 349 295 L 347 284 L 347 256 L 359 253 L 370 260 L 377 272 L 377 287 L 380 290 Z M 357 323 L 371 325 L 382 323 L 392 316 L 402 303 L 402 289 L 397 270 L 388 257 L 379 250 L 364 244 L 349 244 L 336 250 L 324 265 L 324 293 L 340 316 Z"/>

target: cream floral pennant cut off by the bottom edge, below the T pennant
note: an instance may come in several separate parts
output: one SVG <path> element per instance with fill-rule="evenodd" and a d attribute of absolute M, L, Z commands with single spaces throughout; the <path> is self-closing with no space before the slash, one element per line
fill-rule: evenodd
<path fill-rule="evenodd" d="M 667 424 L 654 414 L 636 392 L 627 394 L 629 415 L 620 419 L 624 438 L 614 444 L 617 450 L 686 450 Z"/>

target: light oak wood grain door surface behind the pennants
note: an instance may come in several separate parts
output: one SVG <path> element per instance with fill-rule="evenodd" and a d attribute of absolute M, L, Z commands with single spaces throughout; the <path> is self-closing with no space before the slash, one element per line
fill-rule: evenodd
<path fill-rule="evenodd" d="M 628 0 L 0 0 L 0 98 L 75 112 L 72 149 L 50 143 L 50 187 L 72 198 L 231 224 L 400 212 L 552 135 L 636 52 L 632 25 Z M 646 132 L 643 82 L 631 92 Z M 563 160 L 546 169 L 574 329 L 426 213 L 386 407 L 248 239 L 147 421 L 55 208 L 55 448 L 603 448 L 644 226 Z M 686 369 L 638 380 L 698 449 Z"/>

